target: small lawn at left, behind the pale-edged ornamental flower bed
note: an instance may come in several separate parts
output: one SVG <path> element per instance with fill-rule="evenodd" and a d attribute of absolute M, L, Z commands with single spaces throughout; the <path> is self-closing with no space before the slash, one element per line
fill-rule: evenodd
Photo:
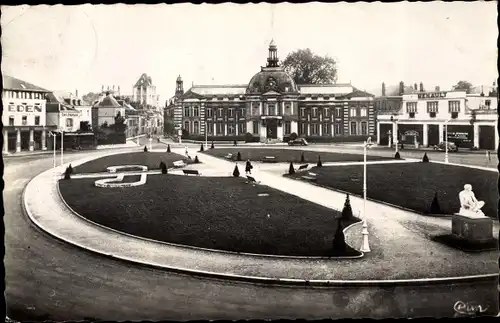
<path fill-rule="evenodd" d="M 194 157 L 192 157 L 194 159 Z M 144 165 L 148 169 L 159 169 L 160 162 L 163 161 L 168 167 L 172 167 L 172 163 L 177 160 L 184 160 L 186 163 L 192 163 L 188 161 L 185 156 L 167 153 L 167 152 L 135 152 L 126 154 L 117 154 L 101 157 L 92 160 L 88 163 L 76 166 L 73 168 L 74 174 L 79 173 L 100 173 L 107 172 L 109 166 L 120 166 L 120 165 Z"/>

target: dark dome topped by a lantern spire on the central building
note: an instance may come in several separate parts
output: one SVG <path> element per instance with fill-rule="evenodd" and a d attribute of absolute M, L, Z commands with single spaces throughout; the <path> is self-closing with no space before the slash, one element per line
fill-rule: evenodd
<path fill-rule="evenodd" d="M 252 77 L 246 93 L 263 94 L 271 91 L 280 94 L 298 93 L 294 80 L 279 66 L 278 48 L 274 40 L 269 44 L 267 66 L 262 67 L 261 71 Z"/>

